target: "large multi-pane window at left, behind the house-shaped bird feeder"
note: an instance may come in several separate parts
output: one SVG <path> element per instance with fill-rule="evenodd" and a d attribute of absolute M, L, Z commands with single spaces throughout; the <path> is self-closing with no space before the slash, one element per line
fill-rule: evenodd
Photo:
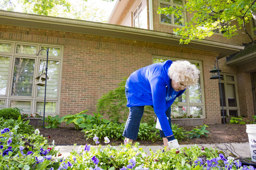
<path fill-rule="evenodd" d="M 0 109 L 11 106 L 24 113 L 43 112 L 45 87 L 35 85 L 35 77 L 45 72 L 46 50 L 41 49 L 47 47 L 48 44 L 0 41 Z M 61 52 L 61 46 L 49 46 L 46 115 L 59 110 Z"/>

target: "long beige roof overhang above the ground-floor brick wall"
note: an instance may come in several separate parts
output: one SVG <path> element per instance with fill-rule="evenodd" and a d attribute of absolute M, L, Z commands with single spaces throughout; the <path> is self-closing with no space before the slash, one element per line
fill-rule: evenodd
<path fill-rule="evenodd" d="M 244 49 L 244 46 L 213 42 L 209 40 L 191 41 L 189 44 L 179 44 L 181 37 L 171 33 L 4 10 L 0 10 L 0 24 L 124 38 L 129 40 L 207 50 L 219 53 L 218 58 L 226 57 Z"/>

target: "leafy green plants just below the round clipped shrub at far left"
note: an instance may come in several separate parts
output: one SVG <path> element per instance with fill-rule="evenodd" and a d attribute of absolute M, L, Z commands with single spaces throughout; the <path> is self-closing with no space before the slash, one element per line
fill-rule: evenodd
<path fill-rule="evenodd" d="M 3 117 L 0 117 L 0 129 L 4 129 L 5 127 L 8 127 L 9 129 L 14 129 L 14 132 L 17 134 L 31 134 L 34 128 L 28 123 L 29 123 L 29 120 L 25 121 L 23 119 L 21 121 L 21 116 L 19 116 L 17 120 L 13 120 L 13 119 L 5 120 L 3 119 Z"/>

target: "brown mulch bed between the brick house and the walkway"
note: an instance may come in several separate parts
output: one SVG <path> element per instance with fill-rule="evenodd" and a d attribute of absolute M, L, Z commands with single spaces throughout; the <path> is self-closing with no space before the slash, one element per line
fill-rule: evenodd
<path fill-rule="evenodd" d="M 179 142 L 180 145 L 186 144 L 212 144 L 212 143 L 240 143 L 240 142 L 248 142 L 248 135 L 246 133 L 246 125 L 245 124 L 211 124 L 206 127 L 206 130 L 209 131 L 208 137 L 201 135 L 200 138 L 186 138 Z M 191 131 L 195 126 L 182 126 L 184 130 Z M 74 128 L 56 128 L 56 129 L 46 129 L 39 128 L 40 134 L 43 137 L 50 136 L 48 142 L 55 141 L 55 145 L 73 145 L 77 143 L 77 145 L 95 145 L 95 142 L 92 140 L 92 137 L 86 140 L 84 138 L 84 133 L 80 130 L 76 130 Z M 146 141 L 146 140 L 134 140 L 134 142 L 139 142 L 140 145 L 144 146 L 157 146 L 163 145 L 162 140 L 156 140 L 155 142 Z M 114 140 L 110 139 L 109 144 L 112 146 L 120 145 L 123 143 L 123 140 Z M 101 145 L 105 145 L 104 139 L 99 143 Z"/>

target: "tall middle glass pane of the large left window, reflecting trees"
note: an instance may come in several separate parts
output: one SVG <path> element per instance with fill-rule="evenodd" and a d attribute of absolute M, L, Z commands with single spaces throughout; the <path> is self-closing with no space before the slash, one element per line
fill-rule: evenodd
<path fill-rule="evenodd" d="M 12 95 L 32 96 L 35 59 L 15 58 Z"/>

